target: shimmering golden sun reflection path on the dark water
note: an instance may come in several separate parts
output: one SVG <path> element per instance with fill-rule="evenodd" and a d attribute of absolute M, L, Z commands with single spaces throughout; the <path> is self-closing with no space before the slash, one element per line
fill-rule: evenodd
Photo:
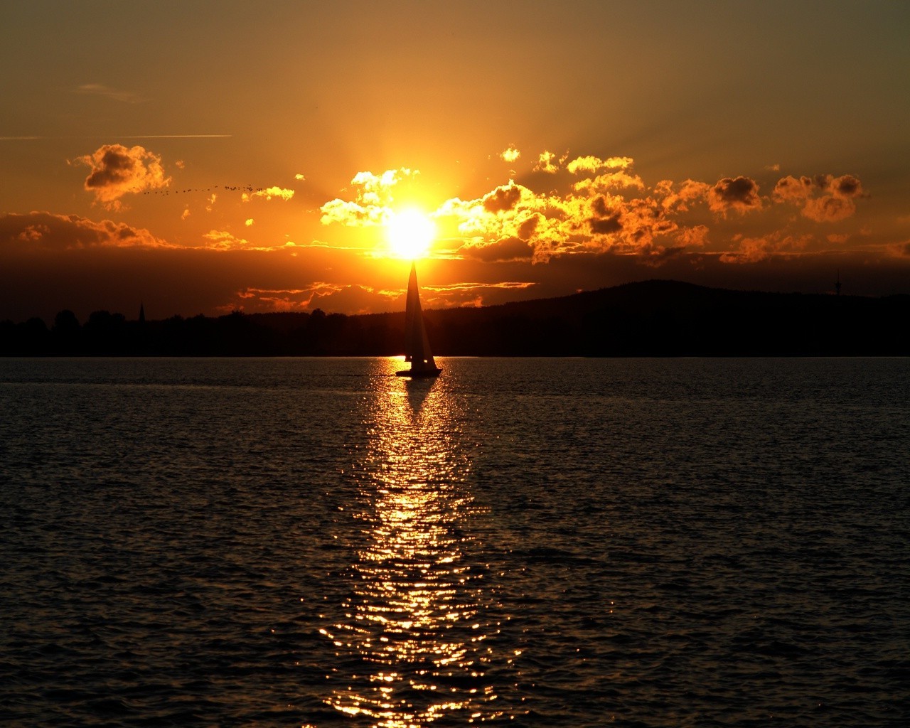
<path fill-rule="evenodd" d="M 398 360 L 379 360 L 392 374 Z M 482 565 L 470 563 L 476 507 L 455 404 L 439 381 L 381 379 L 357 477 L 362 521 L 327 703 L 376 728 L 501 716 L 486 678 L 499 624 Z M 511 662 L 506 659 L 505 662 Z"/>

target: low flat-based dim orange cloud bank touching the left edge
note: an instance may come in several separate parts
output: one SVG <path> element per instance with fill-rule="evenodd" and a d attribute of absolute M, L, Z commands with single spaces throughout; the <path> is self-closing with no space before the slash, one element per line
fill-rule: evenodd
<path fill-rule="evenodd" d="M 0 247 L 22 250 L 81 248 L 170 248 L 141 227 L 50 212 L 0 216 Z"/>

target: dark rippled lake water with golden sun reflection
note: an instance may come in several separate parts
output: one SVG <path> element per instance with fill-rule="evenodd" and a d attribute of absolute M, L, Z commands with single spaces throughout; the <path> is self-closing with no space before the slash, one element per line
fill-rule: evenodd
<path fill-rule="evenodd" d="M 910 360 L 0 359 L 0 724 L 910 724 Z"/>

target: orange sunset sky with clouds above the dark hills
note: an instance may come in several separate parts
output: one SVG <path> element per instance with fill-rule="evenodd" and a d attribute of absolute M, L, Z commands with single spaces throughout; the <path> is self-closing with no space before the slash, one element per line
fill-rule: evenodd
<path fill-rule="evenodd" d="M 0 320 L 910 294 L 910 4 L 0 4 Z"/>

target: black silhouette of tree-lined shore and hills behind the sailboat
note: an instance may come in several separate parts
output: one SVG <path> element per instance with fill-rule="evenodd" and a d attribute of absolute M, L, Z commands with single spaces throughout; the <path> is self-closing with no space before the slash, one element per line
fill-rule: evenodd
<path fill-rule="evenodd" d="M 910 296 L 762 293 L 648 280 L 561 298 L 424 312 L 440 356 L 908 356 Z M 234 312 L 128 321 L 70 311 L 0 323 L 0 354 L 392 356 L 404 313 Z"/>

